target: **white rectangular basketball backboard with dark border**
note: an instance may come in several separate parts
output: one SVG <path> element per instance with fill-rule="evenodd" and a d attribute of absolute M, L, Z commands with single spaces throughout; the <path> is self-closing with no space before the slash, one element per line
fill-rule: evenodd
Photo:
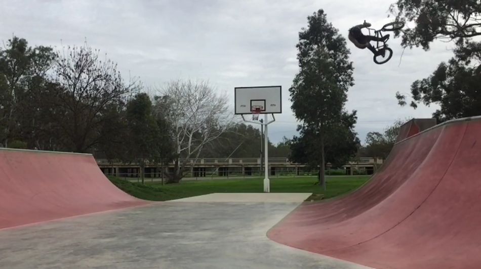
<path fill-rule="evenodd" d="M 234 88 L 235 114 L 252 114 L 253 107 L 261 107 L 261 114 L 282 113 L 282 87 Z"/>

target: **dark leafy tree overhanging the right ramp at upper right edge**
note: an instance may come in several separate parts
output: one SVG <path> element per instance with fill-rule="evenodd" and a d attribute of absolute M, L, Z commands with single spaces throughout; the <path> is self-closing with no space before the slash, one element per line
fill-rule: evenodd
<path fill-rule="evenodd" d="M 402 32 L 405 47 L 428 50 L 434 40 L 454 41 L 455 56 L 440 63 L 427 78 L 411 85 L 411 107 L 437 104 L 433 116 L 445 120 L 481 115 L 481 5 L 478 0 L 398 0 L 391 6 L 396 20 L 408 22 Z M 406 94 L 396 93 L 399 105 L 405 106 Z"/>

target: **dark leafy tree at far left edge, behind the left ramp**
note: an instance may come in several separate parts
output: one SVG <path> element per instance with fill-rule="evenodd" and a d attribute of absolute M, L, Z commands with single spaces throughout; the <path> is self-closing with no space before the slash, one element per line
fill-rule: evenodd
<path fill-rule="evenodd" d="M 33 144 L 32 125 L 43 125 L 38 112 L 43 104 L 35 97 L 47 86 L 55 57 L 52 48 L 31 48 L 17 36 L 0 50 L 0 145 L 15 138 Z"/>

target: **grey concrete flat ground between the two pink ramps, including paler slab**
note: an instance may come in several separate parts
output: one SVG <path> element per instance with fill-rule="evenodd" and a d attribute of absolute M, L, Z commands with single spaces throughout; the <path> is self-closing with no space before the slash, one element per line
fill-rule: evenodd
<path fill-rule="evenodd" d="M 366 268 L 269 240 L 267 230 L 303 196 L 268 195 L 212 195 L 2 230 L 0 268 Z"/>

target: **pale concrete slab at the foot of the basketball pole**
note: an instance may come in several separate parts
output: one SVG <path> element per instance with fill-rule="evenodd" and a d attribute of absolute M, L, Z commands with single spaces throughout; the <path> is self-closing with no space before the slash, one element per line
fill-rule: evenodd
<path fill-rule="evenodd" d="M 170 202 L 302 203 L 311 193 L 211 193 Z"/>

